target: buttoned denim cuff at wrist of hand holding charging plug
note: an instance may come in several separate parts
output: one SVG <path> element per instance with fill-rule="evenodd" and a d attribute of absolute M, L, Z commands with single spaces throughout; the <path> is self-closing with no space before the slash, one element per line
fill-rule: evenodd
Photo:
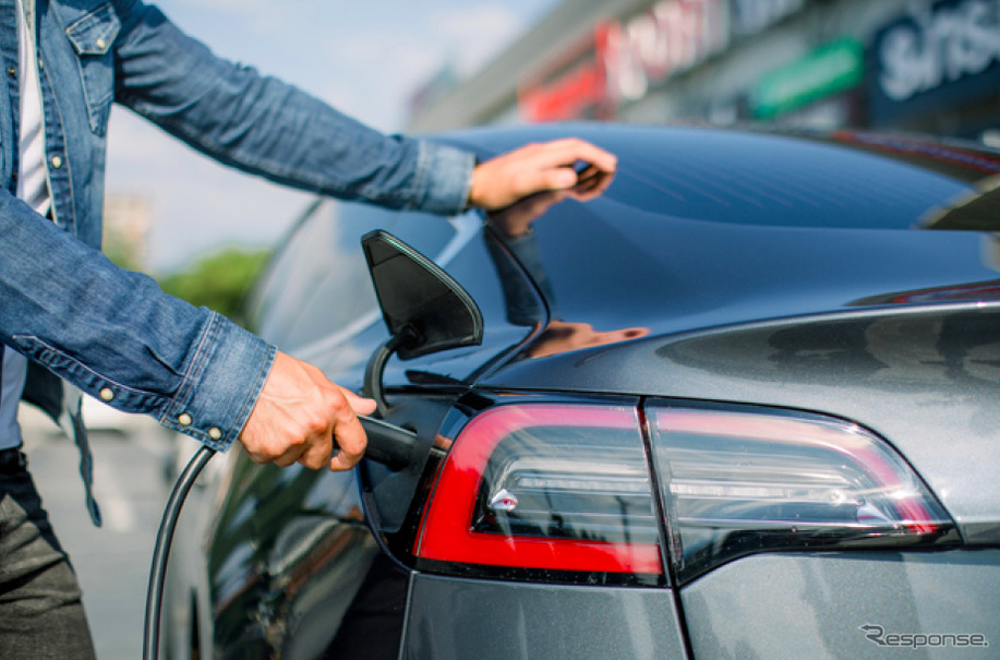
<path fill-rule="evenodd" d="M 225 451 L 240 435 L 264 388 L 275 347 L 212 312 L 191 369 L 160 423 Z"/>

